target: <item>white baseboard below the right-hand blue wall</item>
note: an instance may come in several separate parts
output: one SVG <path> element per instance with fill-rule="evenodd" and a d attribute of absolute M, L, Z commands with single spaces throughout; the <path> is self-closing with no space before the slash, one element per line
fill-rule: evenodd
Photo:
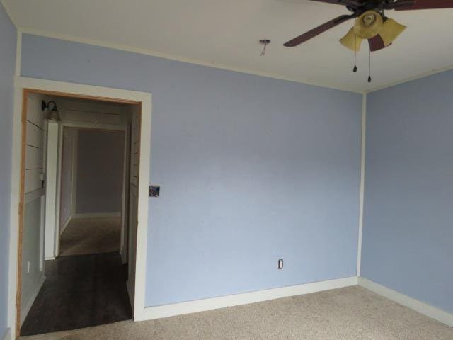
<path fill-rule="evenodd" d="M 367 278 L 358 278 L 358 283 L 363 288 L 367 288 L 374 293 L 398 302 L 400 305 L 409 307 L 412 310 L 419 312 L 420 314 L 425 314 L 427 317 L 431 317 L 432 319 L 453 327 L 453 314 L 449 314 L 444 310 L 440 310 L 439 308 L 432 307 L 424 302 L 415 300 L 413 297 L 408 297 L 407 295 L 398 293 L 395 290 L 391 290 L 390 288 L 386 288 L 384 287 L 384 285 L 379 285 L 379 283 L 374 283 Z"/>

